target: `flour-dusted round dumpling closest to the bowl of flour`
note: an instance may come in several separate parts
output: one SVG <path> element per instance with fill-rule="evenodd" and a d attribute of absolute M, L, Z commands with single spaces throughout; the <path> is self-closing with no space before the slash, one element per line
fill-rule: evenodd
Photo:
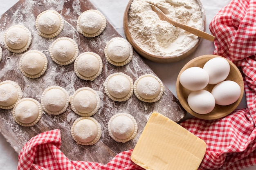
<path fill-rule="evenodd" d="M 115 37 L 107 42 L 104 53 L 110 64 L 124 66 L 132 60 L 133 48 L 126 39 Z"/>

